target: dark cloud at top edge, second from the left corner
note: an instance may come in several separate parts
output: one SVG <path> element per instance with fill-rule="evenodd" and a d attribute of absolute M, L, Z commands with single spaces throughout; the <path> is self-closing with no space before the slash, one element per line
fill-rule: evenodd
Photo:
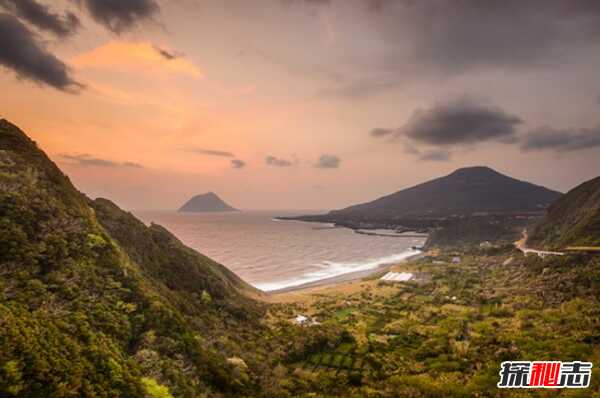
<path fill-rule="evenodd" d="M 122 33 L 158 14 L 156 0 L 73 0 L 82 4 L 91 17 L 107 29 Z"/>

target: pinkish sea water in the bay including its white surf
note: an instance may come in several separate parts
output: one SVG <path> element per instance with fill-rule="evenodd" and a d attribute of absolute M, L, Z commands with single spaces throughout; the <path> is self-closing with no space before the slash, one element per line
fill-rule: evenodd
<path fill-rule="evenodd" d="M 418 252 L 423 238 L 370 236 L 329 224 L 277 221 L 305 212 L 177 213 L 135 211 L 246 282 L 269 291 L 377 268 Z"/>

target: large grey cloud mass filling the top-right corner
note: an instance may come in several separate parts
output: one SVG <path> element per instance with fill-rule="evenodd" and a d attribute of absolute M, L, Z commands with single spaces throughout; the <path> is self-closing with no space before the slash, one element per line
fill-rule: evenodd
<path fill-rule="evenodd" d="M 600 43 L 597 1 L 406 0 L 380 2 L 378 9 L 388 40 L 409 38 L 417 60 L 449 72 L 540 66 Z"/>

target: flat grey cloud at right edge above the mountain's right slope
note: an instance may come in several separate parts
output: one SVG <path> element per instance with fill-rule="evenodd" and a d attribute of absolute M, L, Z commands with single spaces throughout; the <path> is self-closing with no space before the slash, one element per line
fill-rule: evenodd
<path fill-rule="evenodd" d="M 523 151 L 571 152 L 596 147 L 600 147 L 600 127 L 571 130 L 542 127 L 526 134 L 521 140 L 521 150 Z"/>

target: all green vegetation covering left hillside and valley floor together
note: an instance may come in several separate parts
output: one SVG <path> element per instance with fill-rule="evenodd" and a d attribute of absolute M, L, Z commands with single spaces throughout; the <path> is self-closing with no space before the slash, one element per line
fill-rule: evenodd
<path fill-rule="evenodd" d="M 0 396 L 600 397 L 596 377 L 496 389 L 503 360 L 600 363 L 600 257 L 454 250 L 405 264 L 416 281 L 265 304 L 0 121 Z"/>

